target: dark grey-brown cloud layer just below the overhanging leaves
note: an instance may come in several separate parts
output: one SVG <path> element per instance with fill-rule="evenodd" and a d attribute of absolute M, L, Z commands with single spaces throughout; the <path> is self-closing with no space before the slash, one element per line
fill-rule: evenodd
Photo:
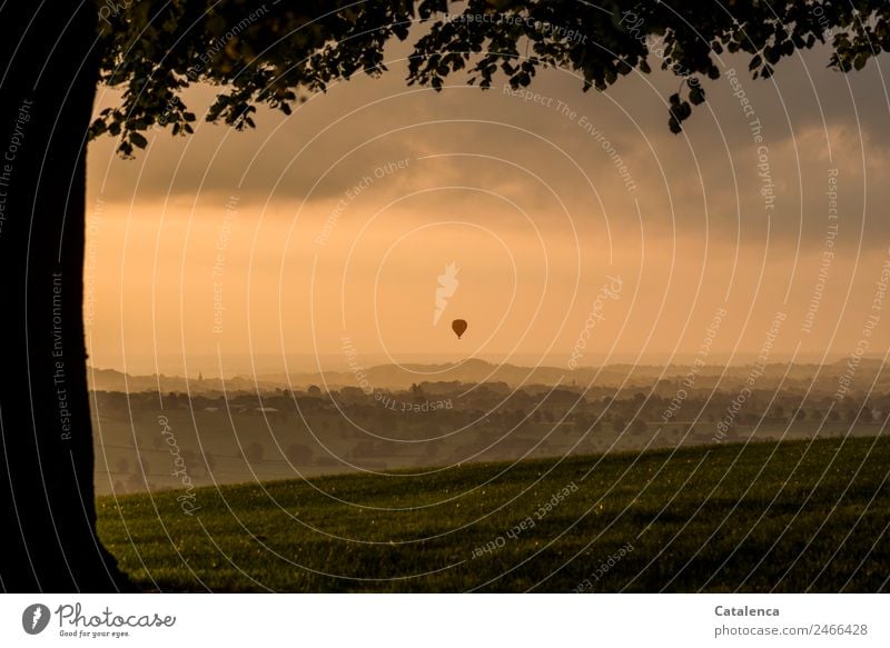
<path fill-rule="evenodd" d="M 847 76 L 828 70 L 827 60 L 824 50 L 805 52 L 769 81 L 751 80 L 742 59 L 725 60 L 738 70 L 769 148 L 777 205 L 769 219 L 759 144 L 725 77 L 705 82 L 708 103 L 673 136 L 664 98 L 676 79 L 661 72 L 632 74 L 606 94 L 583 93 L 577 78 L 556 70 L 542 73 L 531 94 L 483 92 L 459 80 L 436 93 L 406 87 L 398 61 L 382 79 L 356 78 L 313 97 L 290 118 L 261 111 L 254 131 L 201 124 L 190 139 L 159 131 L 130 161 L 115 159 L 112 141 L 96 142 L 90 193 L 121 203 L 237 193 L 256 203 L 306 200 L 327 209 L 379 167 L 409 159 L 407 172 L 377 183 L 374 205 L 436 187 L 476 187 L 538 215 L 558 212 L 562 200 L 573 215 L 615 223 L 633 222 L 640 205 L 652 236 L 692 230 L 759 240 L 769 221 L 774 241 L 818 246 L 827 173 L 837 168 L 847 240 L 867 231 L 874 241 L 888 226 L 870 211 L 890 198 L 882 181 L 887 58 Z M 212 94 L 197 88 L 188 101 L 207 106 Z M 451 191 L 442 199 L 465 209 L 472 198 Z"/>

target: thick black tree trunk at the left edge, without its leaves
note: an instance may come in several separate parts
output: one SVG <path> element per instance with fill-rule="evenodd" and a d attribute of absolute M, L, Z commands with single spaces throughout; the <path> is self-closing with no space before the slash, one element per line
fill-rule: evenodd
<path fill-rule="evenodd" d="M 96 535 L 82 322 L 97 6 L 38 4 L 0 10 L 0 589 L 128 590 Z"/>

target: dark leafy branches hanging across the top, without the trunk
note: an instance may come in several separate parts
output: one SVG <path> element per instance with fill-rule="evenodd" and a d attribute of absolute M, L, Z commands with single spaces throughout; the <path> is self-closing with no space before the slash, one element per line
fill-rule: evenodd
<path fill-rule="evenodd" d="M 890 50 L 887 0 L 96 1 L 101 80 L 123 94 L 90 134 L 118 137 L 123 156 L 147 144 L 148 128 L 192 131 L 182 100 L 192 83 L 219 87 L 208 121 L 254 127 L 259 104 L 289 114 L 334 81 L 383 73 L 394 37 L 413 39 L 407 82 L 435 89 L 458 71 L 482 88 L 498 74 L 520 88 L 557 67 L 584 90 L 605 90 L 657 66 L 681 79 L 666 101 L 674 132 L 705 100 L 702 81 L 720 76 L 726 52 L 749 54 L 752 77 L 767 79 L 817 43 L 844 72 Z"/>

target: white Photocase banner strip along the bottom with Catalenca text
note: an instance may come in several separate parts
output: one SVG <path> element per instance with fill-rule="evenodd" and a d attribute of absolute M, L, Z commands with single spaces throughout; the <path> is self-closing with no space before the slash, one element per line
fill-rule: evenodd
<path fill-rule="evenodd" d="M 890 646 L 872 595 L 6 595 L 0 646 Z"/>

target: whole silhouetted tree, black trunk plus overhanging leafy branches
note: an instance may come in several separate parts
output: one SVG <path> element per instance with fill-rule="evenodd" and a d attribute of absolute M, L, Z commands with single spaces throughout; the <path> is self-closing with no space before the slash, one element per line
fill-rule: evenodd
<path fill-rule="evenodd" d="M 129 587 L 95 531 L 82 323 L 88 136 L 119 138 L 121 154 L 131 156 L 147 146 L 149 128 L 190 133 L 197 117 L 182 91 L 198 82 L 220 89 L 207 120 L 249 128 L 258 106 L 289 114 L 334 81 L 383 73 L 386 43 L 416 33 L 407 82 L 435 89 L 461 71 L 483 88 L 498 74 L 523 88 L 543 67 L 561 67 L 585 90 L 603 90 L 655 63 L 682 80 L 665 101 L 674 131 L 704 101 L 703 80 L 720 76 L 724 52 L 746 52 L 752 76 L 767 78 L 781 58 L 827 39 L 831 64 L 843 71 L 890 49 L 883 0 L 34 4 L 0 7 L 0 331 L 12 378 L 0 392 L 0 504 L 12 520 L 0 587 L 8 591 Z M 414 30 L 414 21 L 424 24 Z M 123 93 L 93 120 L 98 82 Z"/>

